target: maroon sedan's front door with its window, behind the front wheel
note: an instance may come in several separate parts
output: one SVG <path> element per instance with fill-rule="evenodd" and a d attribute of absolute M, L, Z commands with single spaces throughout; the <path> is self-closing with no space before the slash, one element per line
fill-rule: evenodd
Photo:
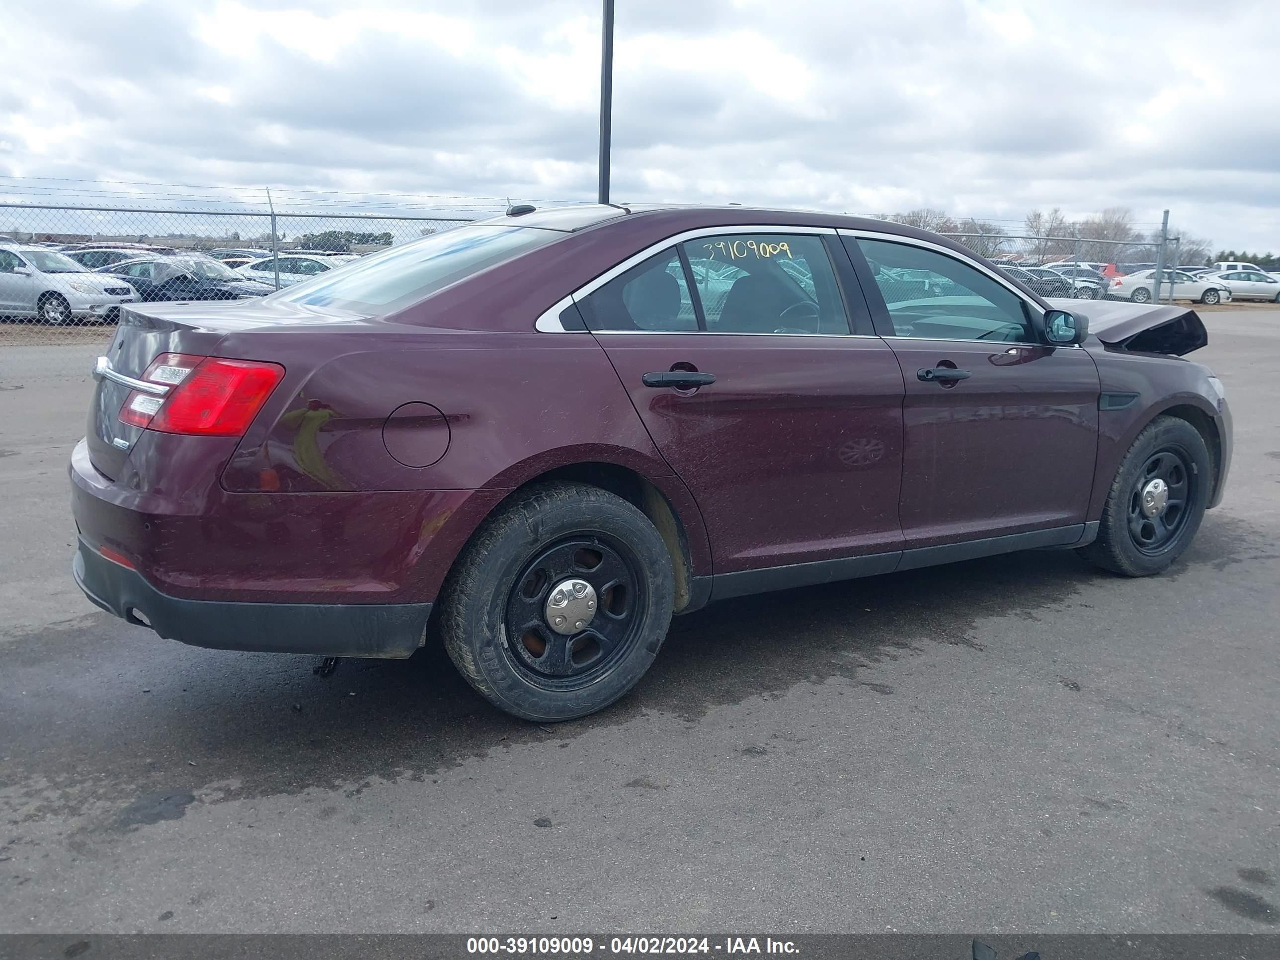
<path fill-rule="evenodd" d="M 906 547 L 1083 524 L 1098 442 L 1098 372 L 1037 342 L 1030 301 L 959 255 L 846 238 L 906 384 Z M 865 271 L 865 273 L 863 273 Z M 904 282 L 928 271 L 932 296 Z"/>

